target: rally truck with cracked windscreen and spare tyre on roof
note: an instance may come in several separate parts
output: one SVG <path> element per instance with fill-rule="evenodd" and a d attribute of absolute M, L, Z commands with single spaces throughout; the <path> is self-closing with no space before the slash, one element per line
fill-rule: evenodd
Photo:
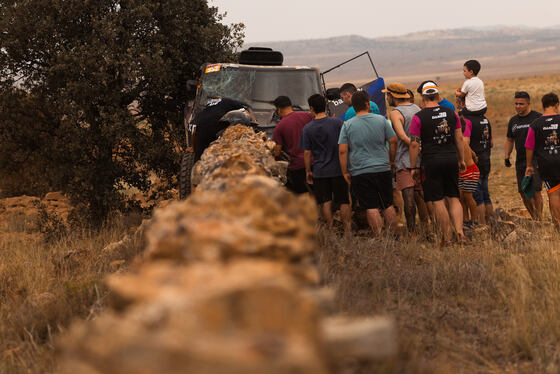
<path fill-rule="evenodd" d="M 307 99 L 324 93 L 319 69 L 307 66 L 284 66 L 280 52 L 270 48 L 249 48 L 241 52 L 239 63 L 207 63 L 201 77 L 189 81 L 191 100 L 185 109 L 187 151 L 181 160 L 179 192 L 181 199 L 190 193 L 190 177 L 194 164 L 193 120 L 211 100 L 229 98 L 243 103 L 256 117 L 257 130 L 272 137 L 280 120 L 273 101 L 288 96 L 294 110 L 308 111 Z"/>

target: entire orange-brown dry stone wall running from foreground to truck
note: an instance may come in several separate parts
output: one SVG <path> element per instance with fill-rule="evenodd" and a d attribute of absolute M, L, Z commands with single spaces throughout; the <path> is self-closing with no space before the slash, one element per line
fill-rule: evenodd
<path fill-rule="evenodd" d="M 111 311 L 63 337 L 62 372 L 328 373 L 341 352 L 394 355 L 391 321 L 321 313 L 316 208 L 275 163 L 260 135 L 228 129 L 196 191 L 154 214 L 140 264 L 108 279 Z"/>

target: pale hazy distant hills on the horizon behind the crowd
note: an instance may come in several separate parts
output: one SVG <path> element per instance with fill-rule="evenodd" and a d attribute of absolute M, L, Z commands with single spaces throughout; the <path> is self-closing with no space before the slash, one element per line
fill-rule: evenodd
<path fill-rule="evenodd" d="M 424 78 L 462 80 L 468 59 L 483 65 L 481 77 L 498 78 L 560 72 L 560 27 L 494 27 L 431 30 L 403 36 L 365 38 L 356 35 L 287 42 L 258 43 L 282 51 L 289 65 L 328 69 L 369 51 L 380 75 L 405 82 Z M 367 58 L 327 75 L 335 84 L 372 76 Z"/>

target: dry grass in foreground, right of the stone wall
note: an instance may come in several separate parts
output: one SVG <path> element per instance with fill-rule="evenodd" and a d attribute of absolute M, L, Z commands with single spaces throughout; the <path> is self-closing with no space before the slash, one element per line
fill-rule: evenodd
<path fill-rule="evenodd" d="M 340 310 L 399 326 L 398 359 L 354 372 L 557 372 L 559 239 L 508 247 L 482 236 L 439 249 L 322 233 L 321 270 Z"/>

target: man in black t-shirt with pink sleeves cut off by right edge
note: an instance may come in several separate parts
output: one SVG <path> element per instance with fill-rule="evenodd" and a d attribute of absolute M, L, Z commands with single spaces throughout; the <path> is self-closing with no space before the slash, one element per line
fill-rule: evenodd
<path fill-rule="evenodd" d="M 527 132 L 525 149 L 527 169 L 533 175 L 533 156 L 537 159 L 539 173 L 548 192 L 552 220 L 560 231 L 560 101 L 554 93 L 543 96 L 543 115 L 531 124 Z"/>

